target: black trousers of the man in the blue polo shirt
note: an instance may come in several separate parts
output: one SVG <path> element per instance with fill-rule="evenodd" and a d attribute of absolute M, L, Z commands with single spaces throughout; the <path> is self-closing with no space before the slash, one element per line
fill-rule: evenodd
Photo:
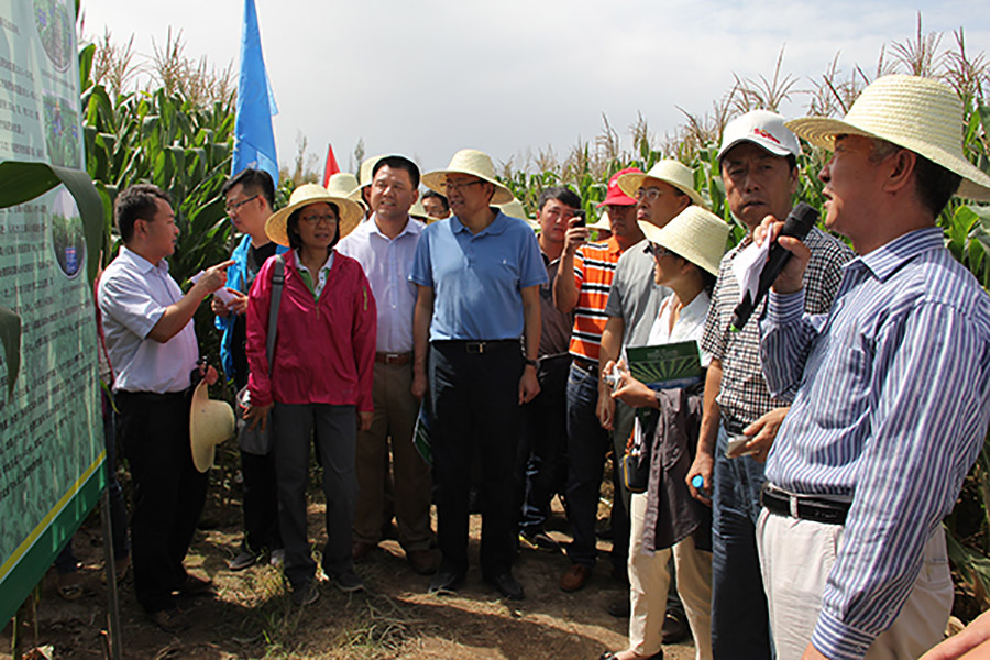
<path fill-rule="evenodd" d="M 482 468 L 482 573 L 494 576 L 512 566 L 521 375 L 518 342 L 490 343 L 482 354 L 468 353 L 464 342 L 430 345 L 437 536 L 444 565 L 462 574 L 468 570 L 468 499 L 475 452 Z"/>

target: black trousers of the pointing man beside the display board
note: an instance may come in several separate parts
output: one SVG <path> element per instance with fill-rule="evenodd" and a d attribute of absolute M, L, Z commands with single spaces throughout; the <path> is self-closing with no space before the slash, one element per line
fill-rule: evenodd
<path fill-rule="evenodd" d="M 117 393 L 118 430 L 134 483 L 134 592 L 148 613 L 174 606 L 183 559 L 206 502 L 207 475 L 189 450 L 188 393 Z"/>

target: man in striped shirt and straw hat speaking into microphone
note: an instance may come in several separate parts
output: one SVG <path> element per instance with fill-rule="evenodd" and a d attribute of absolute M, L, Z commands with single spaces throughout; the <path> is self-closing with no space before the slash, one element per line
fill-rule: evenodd
<path fill-rule="evenodd" d="M 778 658 L 916 658 L 953 604 L 942 518 L 990 418 L 990 298 L 944 246 L 958 191 L 990 199 L 963 155 L 945 85 L 886 76 L 845 120 L 789 122 L 835 150 L 825 224 L 849 262 L 828 315 L 803 314 L 806 248 L 761 323 L 770 391 L 793 406 L 771 449 L 758 522 Z M 961 185 L 960 185 L 961 182 Z M 779 223 L 765 220 L 760 238 Z"/>

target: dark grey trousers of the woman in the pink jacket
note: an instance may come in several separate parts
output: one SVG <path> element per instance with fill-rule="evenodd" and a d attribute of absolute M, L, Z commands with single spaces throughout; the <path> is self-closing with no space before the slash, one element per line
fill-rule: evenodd
<path fill-rule="evenodd" d="M 272 411 L 275 425 L 275 472 L 278 481 L 278 521 L 285 542 L 285 575 L 294 590 L 316 575 L 316 562 L 306 531 L 306 486 L 309 447 L 316 443 L 323 468 L 327 499 L 327 544 L 323 572 L 331 578 L 353 570 L 351 526 L 358 502 L 354 459 L 358 414 L 354 406 L 279 404 Z"/>

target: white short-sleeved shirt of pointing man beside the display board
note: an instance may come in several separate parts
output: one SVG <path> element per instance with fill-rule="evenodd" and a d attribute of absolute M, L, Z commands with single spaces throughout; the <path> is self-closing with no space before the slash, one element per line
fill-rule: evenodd
<path fill-rule="evenodd" d="M 193 321 L 165 343 L 147 339 L 165 308 L 183 297 L 168 274 L 168 262 L 163 258 L 155 265 L 121 248 L 100 278 L 97 297 L 107 354 L 117 373 L 114 392 L 186 389 L 199 359 Z"/>

